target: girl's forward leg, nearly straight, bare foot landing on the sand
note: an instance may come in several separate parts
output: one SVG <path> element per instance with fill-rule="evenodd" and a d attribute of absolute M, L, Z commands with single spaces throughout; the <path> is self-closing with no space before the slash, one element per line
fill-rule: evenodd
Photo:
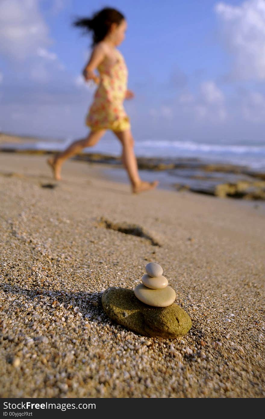
<path fill-rule="evenodd" d="M 140 179 L 137 160 L 133 150 L 134 140 L 131 131 L 115 131 L 114 134 L 122 143 L 122 163 L 129 175 L 132 184 L 132 192 L 138 193 L 155 188 L 158 185 L 158 181 L 144 182 Z"/>

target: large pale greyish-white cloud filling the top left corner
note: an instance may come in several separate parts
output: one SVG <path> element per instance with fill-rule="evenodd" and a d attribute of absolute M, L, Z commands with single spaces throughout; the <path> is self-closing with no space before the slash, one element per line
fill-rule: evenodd
<path fill-rule="evenodd" d="M 0 53 L 24 60 L 51 43 L 49 29 L 39 11 L 38 0 L 0 2 Z"/>

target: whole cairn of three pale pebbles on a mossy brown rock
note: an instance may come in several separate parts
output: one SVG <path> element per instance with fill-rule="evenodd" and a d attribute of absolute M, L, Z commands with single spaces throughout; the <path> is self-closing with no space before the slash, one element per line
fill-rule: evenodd
<path fill-rule="evenodd" d="M 174 303 L 176 293 L 162 275 L 163 269 L 152 262 L 145 270 L 147 274 L 134 292 L 120 287 L 104 291 L 101 301 L 105 313 L 112 321 L 143 336 L 166 339 L 183 336 L 192 322 L 183 308 Z"/>

